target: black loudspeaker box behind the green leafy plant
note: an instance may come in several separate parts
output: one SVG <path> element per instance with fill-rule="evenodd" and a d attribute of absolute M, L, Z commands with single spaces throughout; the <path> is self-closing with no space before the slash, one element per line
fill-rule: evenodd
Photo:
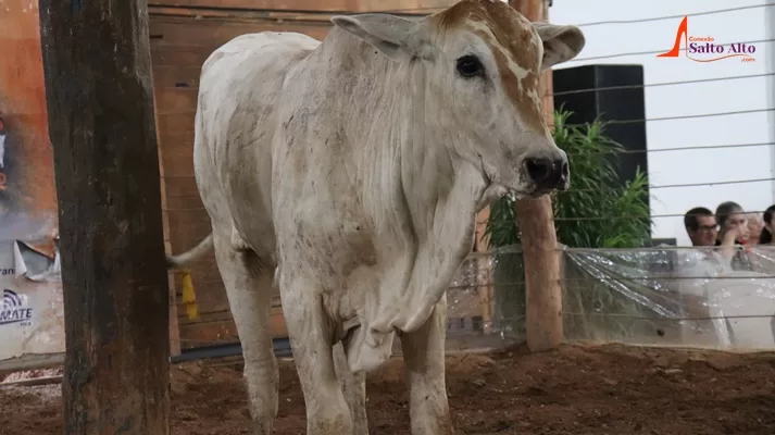
<path fill-rule="evenodd" d="M 648 174 L 641 65 L 585 65 L 554 70 L 552 79 L 554 109 L 573 112 L 567 119 L 568 124 L 591 123 L 596 119 L 614 121 L 605 126 L 604 133 L 626 150 L 610 157 L 622 184 L 635 177 L 638 166 L 640 172 Z"/>

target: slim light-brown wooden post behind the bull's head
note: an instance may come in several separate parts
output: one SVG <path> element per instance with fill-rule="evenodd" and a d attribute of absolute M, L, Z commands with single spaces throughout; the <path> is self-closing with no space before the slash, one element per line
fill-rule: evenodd
<path fill-rule="evenodd" d="M 546 0 L 513 0 L 511 5 L 530 21 L 547 21 Z M 541 75 L 543 115 L 553 123 L 551 70 Z M 516 202 L 516 215 L 525 262 L 527 287 L 527 347 L 533 351 L 557 348 L 562 343 L 562 288 L 560 256 L 551 198 L 522 199 Z"/>

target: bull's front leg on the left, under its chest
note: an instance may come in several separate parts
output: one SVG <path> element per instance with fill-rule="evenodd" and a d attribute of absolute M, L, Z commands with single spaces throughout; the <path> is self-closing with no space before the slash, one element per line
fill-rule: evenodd
<path fill-rule="evenodd" d="M 352 415 L 334 368 L 334 323 L 312 279 L 279 274 L 283 315 L 304 394 L 307 435 L 353 435 Z M 360 434 L 355 434 L 360 435 Z"/>

